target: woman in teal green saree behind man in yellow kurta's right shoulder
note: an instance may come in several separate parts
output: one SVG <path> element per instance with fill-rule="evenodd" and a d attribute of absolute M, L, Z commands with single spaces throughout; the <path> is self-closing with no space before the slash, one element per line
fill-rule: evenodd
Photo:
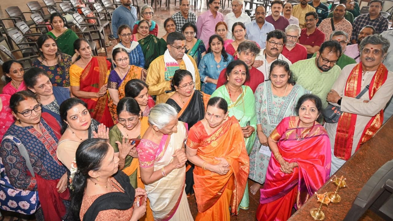
<path fill-rule="evenodd" d="M 187 48 L 185 53 L 193 57 L 196 66 L 199 66 L 200 59 L 206 54 L 206 48 L 202 40 L 195 38 L 197 31 L 195 24 L 191 22 L 185 23 L 182 27 L 182 33 L 185 37 L 185 46 Z"/>

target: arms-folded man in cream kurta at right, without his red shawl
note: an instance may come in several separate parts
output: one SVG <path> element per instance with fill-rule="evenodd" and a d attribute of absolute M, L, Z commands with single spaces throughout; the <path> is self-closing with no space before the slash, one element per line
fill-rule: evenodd
<path fill-rule="evenodd" d="M 384 56 L 386 56 L 388 48 L 389 41 L 380 35 L 367 36 L 360 43 L 360 58 L 362 61 L 362 63 L 359 64 L 361 65 L 360 68 L 362 70 L 360 91 L 371 83 L 371 80 L 378 68 L 384 68 L 382 60 Z M 371 99 L 369 99 L 368 91 L 364 93 L 360 99 L 344 96 L 347 79 L 352 74 L 352 70 L 356 67 L 356 65 L 357 64 L 349 64 L 343 68 L 342 73 L 335 81 L 331 92 L 327 95 L 327 101 L 332 105 L 341 105 L 342 112 L 357 115 L 356 123 L 354 125 L 355 129 L 352 146 L 345 147 L 351 148 L 351 156 L 358 149 L 358 144 L 362 139 L 366 125 L 373 116 L 376 116 L 376 114 L 384 109 L 387 101 L 389 101 L 393 94 L 393 72 L 387 71 L 386 81 L 378 90 L 376 90 Z M 360 71 L 359 74 L 361 74 Z M 382 79 L 378 80 L 382 81 Z M 372 90 L 372 88 L 373 85 L 370 85 L 369 90 Z M 341 116 L 341 118 L 342 117 L 343 116 Z M 382 125 L 382 121 L 380 125 Z M 337 157 L 334 153 L 334 148 L 337 148 L 337 146 L 335 147 L 337 126 L 338 123 L 325 123 L 325 129 L 329 134 L 332 147 L 331 175 L 346 162 L 342 156 Z"/>

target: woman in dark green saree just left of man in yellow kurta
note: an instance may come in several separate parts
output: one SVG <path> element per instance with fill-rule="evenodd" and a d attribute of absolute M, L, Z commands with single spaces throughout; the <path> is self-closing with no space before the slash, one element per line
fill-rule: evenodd
<path fill-rule="evenodd" d="M 138 33 L 132 35 L 134 41 L 138 41 L 145 55 L 145 69 L 149 68 L 150 63 L 158 57 L 158 41 L 155 35 L 149 34 L 149 23 L 141 20 L 138 23 Z"/>

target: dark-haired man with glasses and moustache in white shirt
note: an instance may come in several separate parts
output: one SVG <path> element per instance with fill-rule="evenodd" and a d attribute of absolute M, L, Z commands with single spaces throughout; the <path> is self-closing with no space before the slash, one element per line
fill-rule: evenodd
<path fill-rule="evenodd" d="M 273 61 L 280 59 L 286 61 L 289 65 L 292 64 L 284 55 L 281 54 L 285 43 L 286 36 L 283 31 L 274 30 L 268 33 L 266 38 L 266 48 L 262 49 L 255 58 L 255 61 L 263 61 L 263 64 L 261 66 L 258 66 L 257 64 L 253 65 L 264 74 L 264 79 L 269 79 L 270 65 Z"/>

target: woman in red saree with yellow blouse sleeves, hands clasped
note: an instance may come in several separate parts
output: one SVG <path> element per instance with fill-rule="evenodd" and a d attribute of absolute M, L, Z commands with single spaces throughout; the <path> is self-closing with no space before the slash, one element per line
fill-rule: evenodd
<path fill-rule="evenodd" d="M 92 56 L 86 39 L 75 40 L 74 48 L 80 59 L 70 67 L 71 92 L 87 103 L 92 118 L 112 127 L 114 123 L 108 110 L 107 95 L 107 77 L 111 64 L 106 57 Z"/>

